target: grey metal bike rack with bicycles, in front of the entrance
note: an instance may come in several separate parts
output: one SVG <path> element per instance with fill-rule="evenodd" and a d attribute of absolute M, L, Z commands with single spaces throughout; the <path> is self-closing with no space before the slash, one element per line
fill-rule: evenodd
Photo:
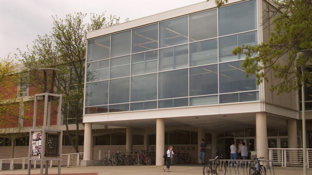
<path fill-rule="evenodd" d="M 217 163 L 218 162 L 218 163 Z M 209 166 L 204 167 L 204 174 L 223 174 L 223 175 L 249 175 L 250 169 L 253 167 L 255 161 L 251 160 L 229 160 L 229 159 L 210 159 Z M 260 160 L 259 171 L 261 174 L 274 175 L 274 168 L 272 165 L 272 160 Z M 255 165 L 257 168 L 257 165 Z M 251 173 L 252 174 L 252 173 Z"/>

